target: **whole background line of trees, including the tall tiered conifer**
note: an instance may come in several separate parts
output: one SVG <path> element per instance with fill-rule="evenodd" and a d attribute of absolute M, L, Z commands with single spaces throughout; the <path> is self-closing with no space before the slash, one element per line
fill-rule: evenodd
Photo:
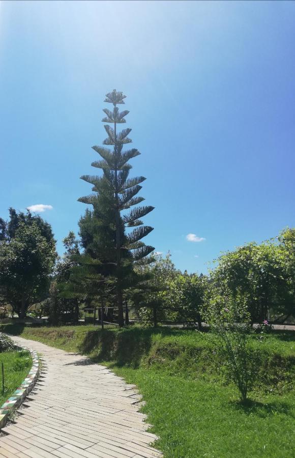
<path fill-rule="evenodd" d="M 103 110 L 107 138 L 93 147 L 100 159 L 92 163 L 102 174 L 81 177 L 92 194 L 78 200 L 91 208 L 79 220 L 78 238 L 70 232 L 64 239 L 63 256 L 40 216 L 10 208 L 9 220 L 0 218 L 0 305 L 20 318 L 47 316 L 54 325 L 78 323 L 83 307 L 99 308 L 102 325 L 117 321 L 121 327 L 128 324 L 128 308 L 147 324 L 188 322 L 199 329 L 210 310 L 222 316 L 232 303 L 247 310 L 251 323 L 294 318 L 294 228 L 222 254 L 208 275 L 182 273 L 169 253 L 154 254 L 144 244 L 153 228 L 141 218 L 154 207 L 138 206 L 145 178 L 129 177 L 129 161 L 140 153 L 124 150 L 131 129 L 118 131 L 129 112 L 117 107 L 124 99 L 115 90 L 106 95 L 112 105 Z"/>

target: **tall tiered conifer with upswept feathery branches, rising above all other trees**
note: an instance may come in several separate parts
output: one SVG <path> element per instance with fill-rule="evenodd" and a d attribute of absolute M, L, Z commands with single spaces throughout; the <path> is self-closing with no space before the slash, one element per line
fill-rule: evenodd
<path fill-rule="evenodd" d="M 112 146 L 113 149 L 105 146 L 93 147 L 102 159 L 93 162 L 92 165 L 101 168 L 103 175 L 82 176 L 81 179 L 93 185 L 94 194 L 79 199 L 80 202 L 93 205 L 93 212 L 86 215 L 86 222 L 90 223 L 90 226 L 88 231 L 81 233 L 82 244 L 84 243 L 86 252 L 95 259 L 100 258 L 102 263 L 108 266 L 108 273 L 114 279 L 120 326 L 124 325 L 123 292 L 134 283 L 136 277 L 133 264 L 149 262 L 149 258 L 146 259 L 145 256 L 154 250 L 154 247 L 145 245 L 141 241 L 153 228 L 143 226 L 140 219 L 150 213 L 154 207 L 135 207 L 126 213 L 126 210 L 144 200 L 143 197 L 136 195 L 141 189 L 140 183 L 145 178 L 142 176 L 129 178 L 129 171 L 132 168 L 129 160 L 140 153 L 134 148 L 123 151 L 124 145 L 132 141 L 128 137 L 131 129 L 117 132 L 117 124 L 125 123 L 125 117 L 129 113 L 127 110 L 119 112 L 117 107 L 125 103 L 125 98 L 122 92 L 116 90 L 106 95 L 105 102 L 111 103 L 113 110 L 105 108 L 103 111 L 106 117 L 102 121 L 113 124 L 113 128 L 108 124 L 104 126 L 108 137 L 103 141 L 103 145 Z M 127 233 L 127 227 L 135 227 L 135 229 Z"/>

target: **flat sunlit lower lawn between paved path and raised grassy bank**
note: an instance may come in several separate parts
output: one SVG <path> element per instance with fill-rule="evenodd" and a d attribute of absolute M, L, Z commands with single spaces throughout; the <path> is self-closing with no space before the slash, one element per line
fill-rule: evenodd
<path fill-rule="evenodd" d="M 294 456 L 291 393 L 256 394 L 256 401 L 245 408 L 230 386 L 154 370 L 112 368 L 143 394 L 143 411 L 154 425 L 152 432 L 160 436 L 156 446 L 167 458 Z"/>

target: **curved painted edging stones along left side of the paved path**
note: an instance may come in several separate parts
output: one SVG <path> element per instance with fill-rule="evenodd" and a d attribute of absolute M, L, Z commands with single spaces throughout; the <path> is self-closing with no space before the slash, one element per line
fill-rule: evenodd
<path fill-rule="evenodd" d="M 0 430 L 6 425 L 9 415 L 22 404 L 25 397 L 30 393 L 39 376 L 39 357 L 37 352 L 26 347 L 21 347 L 21 349 L 31 353 L 33 364 L 24 381 L 0 407 Z"/>

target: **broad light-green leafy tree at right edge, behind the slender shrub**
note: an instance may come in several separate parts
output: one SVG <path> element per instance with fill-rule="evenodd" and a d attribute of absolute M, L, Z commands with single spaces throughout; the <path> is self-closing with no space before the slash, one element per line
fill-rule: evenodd
<path fill-rule="evenodd" d="M 252 242 L 218 259 L 211 272 L 209 306 L 221 298 L 244 304 L 252 323 L 262 323 L 270 314 L 291 312 L 294 306 L 293 232 L 283 232 L 278 242 Z M 210 302 L 211 301 L 211 302 Z"/>

